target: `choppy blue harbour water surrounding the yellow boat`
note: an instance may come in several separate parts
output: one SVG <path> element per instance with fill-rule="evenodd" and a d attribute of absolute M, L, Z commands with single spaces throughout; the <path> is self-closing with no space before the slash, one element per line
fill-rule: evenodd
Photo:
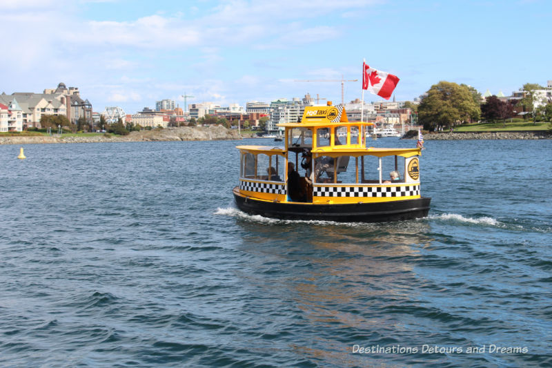
<path fill-rule="evenodd" d="M 551 140 L 427 141 L 389 224 L 240 213 L 242 143 L 0 146 L 0 366 L 552 365 Z"/>

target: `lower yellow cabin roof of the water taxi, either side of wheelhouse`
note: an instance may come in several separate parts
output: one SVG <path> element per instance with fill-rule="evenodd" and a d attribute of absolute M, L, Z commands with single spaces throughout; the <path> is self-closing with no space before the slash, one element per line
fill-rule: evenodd
<path fill-rule="evenodd" d="M 284 155 L 286 149 L 282 147 L 273 147 L 273 146 L 237 146 L 240 151 L 254 152 L 254 153 L 266 153 L 266 154 L 277 154 Z M 422 150 L 420 148 L 353 148 L 351 146 L 328 146 L 328 147 L 319 147 L 313 149 L 311 152 L 322 154 L 322 155 L 343 155 L 344 153 L 349 153 L 351 155 L 371 155 L 376 157 L 385 157 L 385 156 L 402 156 L 402 157 L 412 157 L 416 155 L 421 155 Z"/>

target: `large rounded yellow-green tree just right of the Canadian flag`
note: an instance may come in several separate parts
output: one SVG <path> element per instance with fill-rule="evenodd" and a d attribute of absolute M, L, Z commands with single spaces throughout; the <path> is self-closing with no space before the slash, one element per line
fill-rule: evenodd
<path fill-rule="evenodd" d="M 466 86 L 440 81 L 431 86 L 422 98 L 418 114 L 424 129 L 433 130 L 479 119 L 481 110 Z"/>

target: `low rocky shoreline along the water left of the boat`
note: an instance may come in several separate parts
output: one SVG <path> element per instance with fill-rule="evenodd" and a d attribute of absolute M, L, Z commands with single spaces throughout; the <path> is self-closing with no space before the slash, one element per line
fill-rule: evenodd
<path fill-rule="evenodd" d="M 37 143 L 97 143 L 97 142 L 152 142 L 152 141 L 208 141 L 242 139 L 237 130 L 224 126 L 183 126 L 161 130 L 141 130 L 129 135 L 95 135 L 92 137 L 0 137 L 0 144 L 37 144 Z"/>

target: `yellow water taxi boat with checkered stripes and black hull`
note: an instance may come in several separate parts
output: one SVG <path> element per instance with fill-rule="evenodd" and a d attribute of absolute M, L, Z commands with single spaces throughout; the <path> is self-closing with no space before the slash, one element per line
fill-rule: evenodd
<path fill-rule="evenodd" d="M 306 106 L 285 128 L 285 146 L 237 146 L 237 207 L 290 220 L 386 222 L 426 217 L 420 148 L 366 146 L 366 122 L 343 106 Z"/>

